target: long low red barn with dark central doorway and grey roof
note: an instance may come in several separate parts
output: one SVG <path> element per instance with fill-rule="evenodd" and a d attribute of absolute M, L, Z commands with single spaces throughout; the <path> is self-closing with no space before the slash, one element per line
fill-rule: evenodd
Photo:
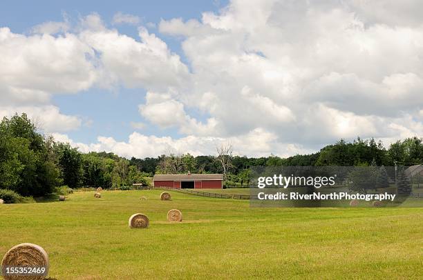
<path fill-rule="evenodd" d="M 223 188 L 223 174 L 156 174 L 155 187 Z"/>

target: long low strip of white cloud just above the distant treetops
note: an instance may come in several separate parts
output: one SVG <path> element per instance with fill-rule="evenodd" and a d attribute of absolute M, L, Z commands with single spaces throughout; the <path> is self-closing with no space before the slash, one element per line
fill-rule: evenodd
<path fill-rule="evenodd" d="M 53 134 L 58 141 L 68 142 L 72 146 L 79 148 L 82 152 L 88 151 L 111 151 L 120 154 L 122 157 L 157 157 L 158 154 L 167 154 L 169 151 L 176 153 L 189 152 L 194 156 L 204 154 L 215 154 L 216 146 L 232 143 L 235 147 L 235 154 L 250 154 L 266 156 L 272 149 L 277 154 L 288 156 L 290 154 L 310 152 L 301 145 L 294 143 L 277 143 L 276 137 L 270 132 L 264 130 L 254 130 L 241 137 L 231 137 L 228 139 L 220 137 L 196 137 L 189 135 L 180 139 L 172 137 L 147 136 L 138 132 L 133 132 L 128 141 L 116 141 L 113 137 L 98 137 L 97 142 L 86 145 L 77 143 L 70 139 L 66 134 Z"/>

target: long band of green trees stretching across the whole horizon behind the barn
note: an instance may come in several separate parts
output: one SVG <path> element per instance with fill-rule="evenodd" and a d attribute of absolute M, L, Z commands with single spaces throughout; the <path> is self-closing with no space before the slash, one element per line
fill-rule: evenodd
<path fill-rule="evenodd" d="M 225 172 L 227 184 L 248 184 L 252 166 L 393 166 L 394 162 L 409 166 L 423 162 L 423 139 L 407 138 L 391 144 L 388 149 L 374 139 L 357 138 L 352 143 L 341 139 L 319 152 L 288 158 L 274 154 L 259 158 L 232 156 L 232 150 L 230 152 L 197 157 L 162 154 L 131 160 L 111 152 L 84 154 L 68 143 L 45 137 L 26 114 L 21 114 L 10 119 L 5 117 L 0 123 L 0 189 L 39 197 L 62 185 L 120 188 L 132 183 L 147 184 L 145 177 L 156 173 Z M 377 169 L 375 180 L 373 186 L 388 186 L 384 168 Z M 407 182 L 401 182 L 405 189 Z"/>

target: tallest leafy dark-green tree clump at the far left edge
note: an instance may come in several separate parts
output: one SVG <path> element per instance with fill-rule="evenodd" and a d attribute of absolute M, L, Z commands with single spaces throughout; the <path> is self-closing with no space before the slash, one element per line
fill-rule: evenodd
<path fill-rule="evenodd" d="M 37 132 L 26 114 L 0 123 L 0 188 L 39 197 L 53 192 L 58 170 L 50 141 Z"/>

